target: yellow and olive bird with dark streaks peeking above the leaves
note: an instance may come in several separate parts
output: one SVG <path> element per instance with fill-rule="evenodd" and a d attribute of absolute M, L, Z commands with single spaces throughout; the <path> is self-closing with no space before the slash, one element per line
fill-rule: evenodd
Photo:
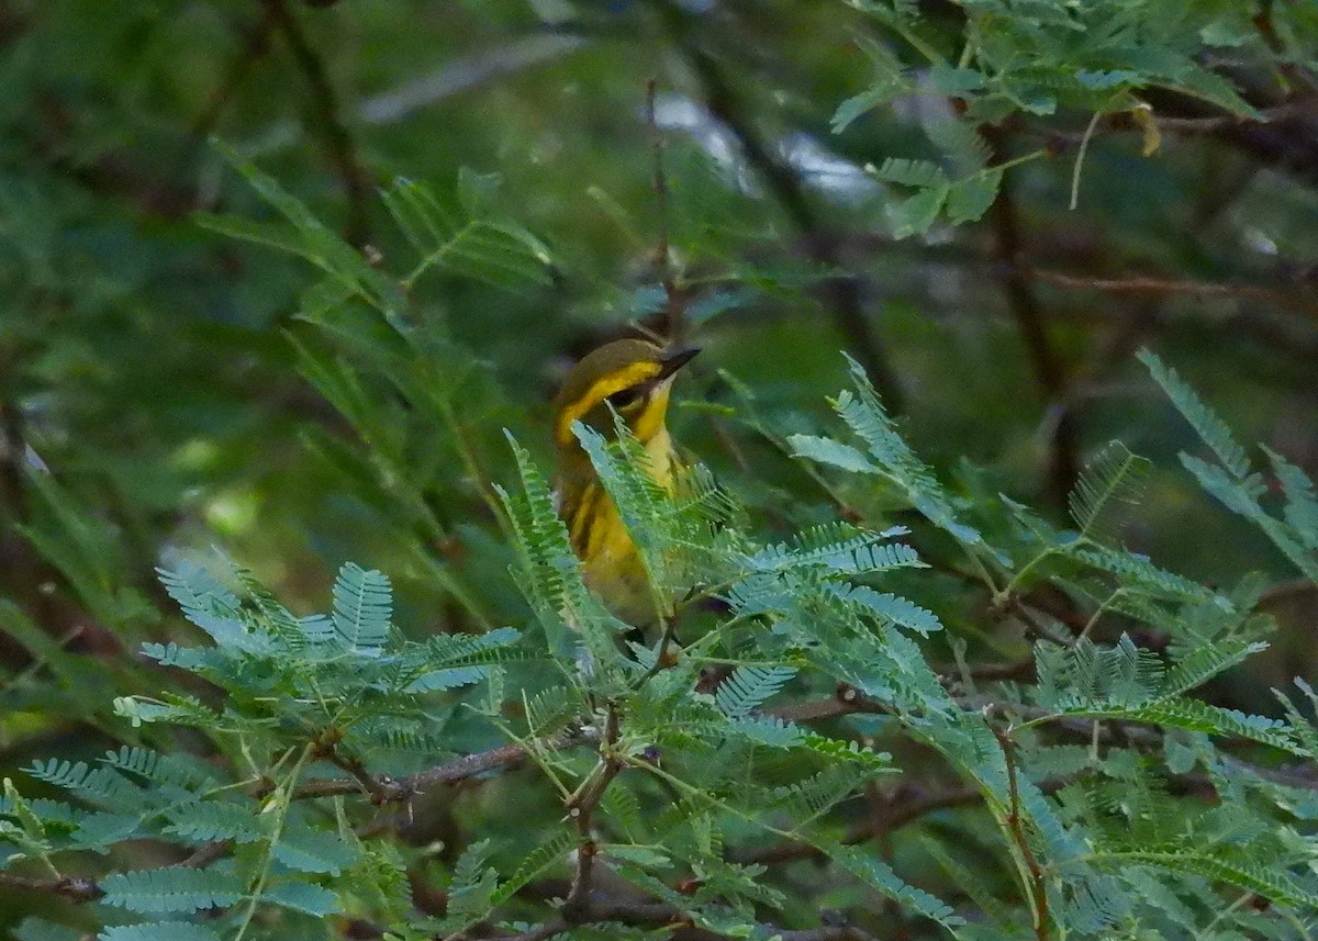
<path fill-rule="evenodd" d="M 587 588 L 634 627 L 658 621 L 654 593 L 637 546 L 572 426 L 581 422 L 613 438 L 612 406 L 645 449 L 646 470 L 672 492 L 677 457 L 664 420 L 668 395 L 677 370 L 699 352 L 642 339 L 614 340 L 581 358 L 554 399 L 559 517 Z"/>

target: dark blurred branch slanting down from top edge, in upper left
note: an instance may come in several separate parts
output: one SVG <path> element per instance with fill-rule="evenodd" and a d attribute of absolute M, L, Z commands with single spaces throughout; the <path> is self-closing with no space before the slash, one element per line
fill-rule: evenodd
<path fill-rule="evenodd" d="M 289 50 L 297 61 L 311 91 L 312 116 L 320 136 L 324 138 L 330 158 L 339 173 L 344 194 L 348 198 L 348 221 L 344 237 L 356 246 L 362 246 L 370 235 L 368 207 L 370 203 L 370 181 L 357 157 L 357 146 L 339 116 L 339 96 L 330 83 L 324 62 L 307 41 L 298 18 L 289 9 L 287 0 L 261 0 L 266 13 L 283 33 Z"/>

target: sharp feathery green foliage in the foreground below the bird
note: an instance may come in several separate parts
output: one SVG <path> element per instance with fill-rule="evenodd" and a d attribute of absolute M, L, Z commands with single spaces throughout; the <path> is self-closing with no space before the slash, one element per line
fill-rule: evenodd
<path fill-rule="evenodd" d="M 1057 565 L 1081 581 L 1087 576 L 1074 569 L 1087 564 L 1114 581 L 1114 592 L 1145 598 L 1153 626 L 1162 626 L 1165 604 L 1232 608 L 1118 548 L 1112 530 L 1099 525 L 1111 505 L 1136 494 L 1140 461 L 1119 445 L 1095 459 L 1073 496 L 1078 531 L 1049 534 L 1019 505 L 1003 505 L 992 531 L 1024 521 L 1031 536 L 1046 540 L 1041 554 L 1014 567 L 1006 560 L 1017 552 L 990 547 L 958 522 L 956 498 L 896 434 L 854 365 L 853 380 L 854 394 L 834 402 L 869 455 L 829 460 L 849 445 L 826 438 L 797 440 L 797 448 L 841 472 L 878 477 L 891 488 L 890 501 L 905 501 L 931 532 L 957 538 L 960 551 L 1000 585 L 996 598 L 1020 597 L 1016 586 L 1029 569 L 1044 577 Z M 1213 424 L 1206 406 L 1197 409 L 1199 424 L 1224 428 Z M 1126 633 L 1115 643 L 1044 639 L 1035 643 L 1031 687 L 1008 685 L 1003 697 L 979 700 L 937 675 L 927 651 L 903 633 L 925 641 L 945 633 L 933 610 L 858 581 L 887 586 L 900 573 L 921 577 L 915 551 L 891 542 L 912 535 L 907 527 L 832 523 L 757 543 L 747 514 L 701 472 L 692 472 L 701 481 L 695 497 L 668 494 L 650 481 L 643 452 L 626 435 L 609 443 L 579 428 L 579 436 L 637 543 L 663 554 L 652 571 L 691 572 L 693 559 L 717 561 L 718 584 L 697 585 L 683 605 L 717 593 L 729 610 L 685 637 L 675 659 L 619 643 L 616 622 L 581 584 L 543 474 L 514 442 L 521 480 L 500 494 L 539 630 L 403 639 L 393 622 L 390 581 L 353 564 L 333 584 L 332 613 L 307 617 L 293 615 L 249 572 L 235 572 L 231 588 L 195 565 L 162 571 L 166 590 L 207 642 L 144 651 L 204 677 L 224 696 L 208 696 L 214 705 L 136 697 L 119 712 L 142 729 L 203 730 L 215 758 L 124 745 L 96 764 L 33 763 L 33 779 L 87 809 L 28 801 L 11 785 L 0 813 L 11 866 L 57 865 L 142 838 L 207 854 L 195 866 L 101 875 L 98 905 L 159 917 L 107 928 L 103 937 L 156 937 L 175 925 L 186 925 L 177 928 L 182 936 L 246 936 L 285 919 L 401 911 L 407 883 L 397 878 L 397 863 L 380 865 L 380 836 L 355 833 L 362 812 L 372 801 L 409 799 L 409 780 L 501 767 L 480 764 L 484 756 L 463 746 L 493 734 L 531 756 L 535 774 L 569 808 L 590 814 L 589 834 L 576 830 L 569 813 L 526 820 L 513 855 L 497 830 L 468 842 L 452 865 L 444 913 L 413 920 L 407 932 L 464 937 L 525 908 L 519 894 L 540 879 L 573 865 L 573 878 L 587 878 L 584 854 L 608 859 L 633 891 L 709 930 L 759 930 L 759 912 L 786 909 L 787 896 L 763 882 L 762 863 L 729 858 L 734 833 L 803 843 L 836 867 L 834 879 L 851 879 L 948 932 L 970 930 L 970 909 L 912 884 L 855 837 L 844 838 L 838 824 L 849 808 L 898 770 L 891 756 L 850 738 L 854 730 L 844 726 L 837 738 L 808 727 L 818 708 L 811 704 L 833 702 L 822 714 L 855 722 L 887 717 L 891 725 L 870 727 L 920 742 L 970 783 L 996 828 L 981 838 L 996 843 L 1000 865 L 1019 872 L 1029 900 L 1028 911 L 994 903 L 998 930 L 1043 919 L 1075 937 L 1104 937 L 1116 925 L 1159 924 L 1168 917 L 1160 900 L 1195 924 L 1213 909 L 1198 916 L 1194 903 L 1181 899 L 1188 878 L 1210 895 L 1213 886 L 1256 894 L 1296 917 L 1318 911 L 1304 870 L 1310 838 L 1290 811 L 1293 791 L 1261 770 L 1234 770 L 1240 743 L 1310 760 L 1318 733 L 1289 702 L 1286 718 L 1268 718 L 1189 695 L 1264 644 L 1224 634 L 1206 637 L 1205 646 L 1153 652 Z M 1239 468 L 1236 477 L 1243 473 Z M 1097 542 L 1101 532 L 1106 544 Z M 1124 617 L 1136 618 L 1136 610 L 1123 609 Z M 1188 629 L 1197 623 L 1185 608 L 1178 617 Z M 554 668 L 521 668 L 532 660 Z M 709 692 L 701 691 L 704 664 L 729 667 Z M 844 692 L 836 692 L 838 683 Z M 834 693 L 820 700 L 828 689 Z M 467 708 L 455 710 L 460 702 Z M 521 720 L 511 718 L 517 702 Z M 435 708 L 448 713 L 440 741 L 451 742 L 456 756 L 427 770 L 435 739 L 426 726 Z M 994 714 L 1011 721 L 998 725 Z M 1087 746 L 1065 745 L 1075 724 Z M 1099 729 L 1115 741 L 1104 742 Z M 1188 754 L 1174 771 L 1160 758 L 1173 742 Z M 592 751 L 597 759 L 583 760 Z M 374 771 L 377 762 L 390 771 Z M 469 771 L 465 762 L 474 762 Z M 229 778 L 244 767 L 264 771 Z M 395 776 L 407 767 L 414 779 Z M 1223 800 L 1232 795 L 1230 821 L 1210 804 L 1172 796 L 1174 780 L 1194 775 Z M 934 855 L 948 861 L 952 851 L 945 845 Z M 368 857 L 377 862 L 368 867 Z M 981 878 L 962 866 L 950 871 L 958 880 Z M 369 891 L 348 882 L 368 872 Z M 679 891 L 675 878 L 693 888 Z M 992 892 L 966 891 L 969 898 Z"/>

